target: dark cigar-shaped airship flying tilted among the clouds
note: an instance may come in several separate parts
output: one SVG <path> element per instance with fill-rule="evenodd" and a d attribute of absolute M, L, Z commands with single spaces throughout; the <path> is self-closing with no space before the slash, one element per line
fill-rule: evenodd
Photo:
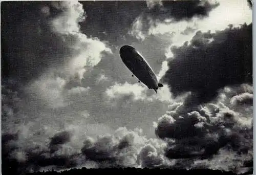
<path fill-rule="evenodd" d="M 158 83 L 156 74 L 147 63 L 145 58 L 132 46 L 124 45 L 119 51 L 120 57 L 126 67 L 136 76 L 139 82 L 143 82 L 148 89 L 154 89 L 157 93 L 159 87 L 163 84 Z"/>

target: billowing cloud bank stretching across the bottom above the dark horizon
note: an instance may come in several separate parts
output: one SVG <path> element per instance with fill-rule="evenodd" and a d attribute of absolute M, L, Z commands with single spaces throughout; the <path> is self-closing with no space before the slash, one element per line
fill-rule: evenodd
<path fill-rule="evenodd" d="M 203 163 L 234 171 L 252 159 L 252 104 L 234 101 L 247 101 L 252 93 L 248 84 L 226 86 L 214 101 L 192 106 L 186 102 L 188 94 L 184 101 L 170 103 L 166 114 L 154 123 L 159 139 L 145 137 L 138 128 L 119 127 L 113 134 L 91 137 L 76 126 L 31 130 L 33 125 L 28 123 L 3 133 L 3 163 L 16 164 L 18 172 L 52 166 L 58 170 L 81 166 L 199 168 Z M 9 113 L 9 117 L 13 116 Z M 225 164 L 234 160 L 239 164 L 213 164 L 223 155 L 227 156 L 222 158 Z M 182 159 L 190 161 L 181 164 Z"/>

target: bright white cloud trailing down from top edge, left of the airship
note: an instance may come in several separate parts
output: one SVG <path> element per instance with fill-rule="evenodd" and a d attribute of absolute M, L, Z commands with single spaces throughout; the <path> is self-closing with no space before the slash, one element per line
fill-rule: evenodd
<path fill-rule="evenodd" d="M 71 58 L 68 68 L 74 74 L 84 67 L 94 67 L 101 60 L 101 52 L 112 53 L 105 43 L 98 38 L 88 38 L 81 33 L 79 22 L 86 16 L 82 4 L 78 2 L 53 3 L 54 7 L 62 10 L 62 13 L 52 20 L 52 30 L 61 34 L 63 42 L 74 49 L 74 57 Z M 83 70 L 84 72 L 85 70 Z"/>

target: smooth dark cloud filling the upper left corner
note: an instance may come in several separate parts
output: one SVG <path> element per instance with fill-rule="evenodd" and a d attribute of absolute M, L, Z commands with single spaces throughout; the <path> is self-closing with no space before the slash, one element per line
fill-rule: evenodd
<path fill-rule="evenodd" d="M 41 12 L 43 7 L 50 9 L 49 15 Z M 60 12 L 50 2 L 2 3 L 3 80 L 14 77 L 28 82 L 73 54 L 49 25 Z"/>

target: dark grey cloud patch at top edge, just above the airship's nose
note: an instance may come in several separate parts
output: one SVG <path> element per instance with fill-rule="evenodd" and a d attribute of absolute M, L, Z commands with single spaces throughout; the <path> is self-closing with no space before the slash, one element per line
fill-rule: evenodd
<path fill-rule="evenodd" d="M 112 44 L 123 40 L 135 18 L 146 9 L 145 1 L 102 1 L 81 2 L 87 14 L 87 20 L 81 24 L 81 30 L 88 35 L 110 41 Z M 98 21 L 95 22 L 97 18 Z M 92 28 L 93 27 L 93 28 Z M 110 37 L 110 36 L 115 37 Z"/>

